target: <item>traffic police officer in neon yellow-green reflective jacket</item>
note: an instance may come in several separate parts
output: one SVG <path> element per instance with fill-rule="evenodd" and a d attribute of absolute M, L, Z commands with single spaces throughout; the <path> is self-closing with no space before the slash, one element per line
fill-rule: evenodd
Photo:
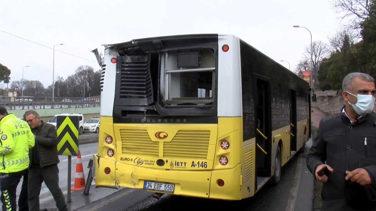
<path fill-rule="evenodd" d="M 29 167 L 34 136 L 25 121 L 0 106 L 0 190 L 3 210 L 17 210 L 17 185 Z"/>

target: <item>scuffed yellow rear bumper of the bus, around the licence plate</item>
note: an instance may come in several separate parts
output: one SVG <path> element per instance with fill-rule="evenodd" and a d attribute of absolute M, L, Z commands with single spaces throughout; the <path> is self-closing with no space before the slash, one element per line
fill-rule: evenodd
<path fill-rule="evenodd" d="M 174 192 L 183 196 L 240 200 L 241 165 L 226 170 L 170 170 L 133 166 L 94 155 L 96 186 L 143 188 L 144 181 L 175 184 Z M 111 172 L 105 173 L 109 167 Z M 217 180 L 223 179 L 219 187 Z"/>

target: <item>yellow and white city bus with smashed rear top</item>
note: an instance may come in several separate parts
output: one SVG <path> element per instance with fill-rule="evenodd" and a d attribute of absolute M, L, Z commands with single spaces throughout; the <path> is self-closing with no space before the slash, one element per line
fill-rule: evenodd
<path fill-rule="evenodd" d="M 240 200 L 277 184 L 310 134 L 308 83 L 237 36 L 134 39 L 94 53 L 97 187 Z"/>

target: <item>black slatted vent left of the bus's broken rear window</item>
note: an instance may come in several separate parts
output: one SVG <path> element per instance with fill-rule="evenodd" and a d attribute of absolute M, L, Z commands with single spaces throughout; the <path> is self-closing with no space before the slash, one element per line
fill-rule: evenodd
<path fill-rule="evenodd" d="M 126 56 L 121 63 L 120 98 L 146 99 L 153 102 L 150 55 Z"/>

